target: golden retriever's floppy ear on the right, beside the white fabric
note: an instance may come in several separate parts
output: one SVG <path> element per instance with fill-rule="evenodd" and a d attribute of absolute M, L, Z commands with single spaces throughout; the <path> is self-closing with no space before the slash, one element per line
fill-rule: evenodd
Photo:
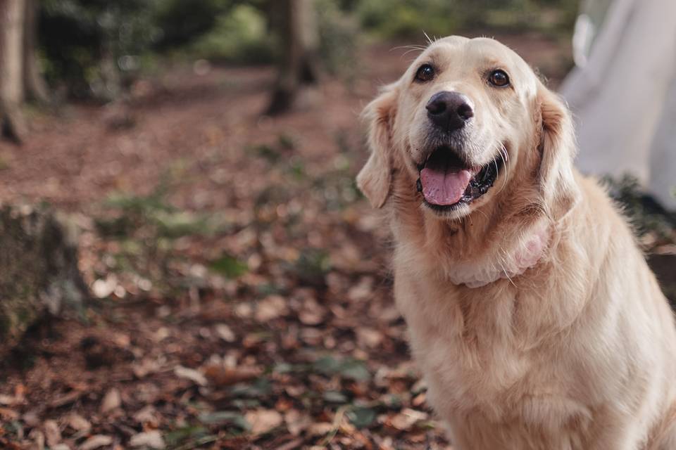
<path fill-rule="evenodd" d="M 542 124 L 539 182 L 544 207 L 550 217 L 562 217 L 580 198 L 572 169 L 577 151 L 575 130 L 568 107 L 541 82 L 538 82 L 537 105 Z"/>

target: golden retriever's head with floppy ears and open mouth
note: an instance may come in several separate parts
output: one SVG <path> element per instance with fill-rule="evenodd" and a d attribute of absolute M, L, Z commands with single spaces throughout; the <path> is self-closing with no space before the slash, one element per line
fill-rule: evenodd
<path fill-rule="evenodd" d="M 493 39 L 434 41 L 365 109 L 371 155 L 357 176 L 382 207 L 401 176 L 427 210 L 457 219 L 508 195 L 547 212 L 576 197 L 570 114 Z"/>

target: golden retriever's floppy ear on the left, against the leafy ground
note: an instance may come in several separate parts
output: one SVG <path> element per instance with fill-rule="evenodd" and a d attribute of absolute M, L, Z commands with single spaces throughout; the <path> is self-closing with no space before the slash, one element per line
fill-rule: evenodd
<path fill-rule="evenodd" d="M 392 184 L 392 124 L 396 115 L 396 100 L 396 86 L 390 84 L 362 113 L 369 123 L 368 146 L 371 155 L 357 175 L 357 186 L 375 208 L 385 204 Z"/>

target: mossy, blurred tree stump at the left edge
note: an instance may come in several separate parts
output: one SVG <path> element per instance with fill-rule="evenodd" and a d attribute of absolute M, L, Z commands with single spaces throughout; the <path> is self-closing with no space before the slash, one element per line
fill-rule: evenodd
<path fill-rule="evenodd" d="M 40 319 L 82 313 L 88 294 L 73 228 L 49 210 L 0 209 L 0 359 Z"/>

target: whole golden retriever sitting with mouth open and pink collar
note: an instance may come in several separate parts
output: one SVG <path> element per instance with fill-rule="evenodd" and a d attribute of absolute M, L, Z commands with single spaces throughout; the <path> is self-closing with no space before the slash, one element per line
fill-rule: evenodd
<path fill-rule="evenodd" d="M 676 449 L 672 311 L 573 167 L 561 100 L 506 46 L 453 36 L 365 117 L 358 186 L 392 230 L 396 304 L 453 448 Z"/>

